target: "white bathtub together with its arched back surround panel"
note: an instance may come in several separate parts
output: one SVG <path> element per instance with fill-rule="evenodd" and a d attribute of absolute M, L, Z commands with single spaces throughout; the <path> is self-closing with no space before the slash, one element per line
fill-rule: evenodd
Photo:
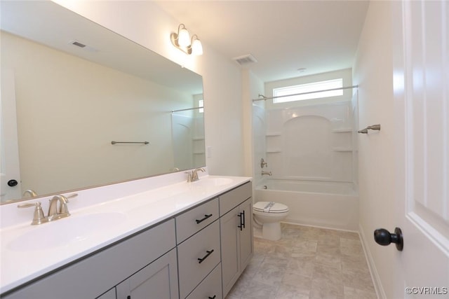
<path fill-rule="evenodd" d="M 255 202 L 286 204 L 286 222 L 358 229 L 354 99 L 265 111 L 272 176 L 257 179 L 255 167 Z"/>

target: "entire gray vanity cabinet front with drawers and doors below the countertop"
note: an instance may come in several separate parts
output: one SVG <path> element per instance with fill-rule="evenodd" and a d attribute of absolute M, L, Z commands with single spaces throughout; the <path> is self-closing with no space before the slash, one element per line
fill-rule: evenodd
<path fill-rule="evenodd" d="M 225 298 L 253 255 L 251 193 L 244 183 L 1 298 Z"/>

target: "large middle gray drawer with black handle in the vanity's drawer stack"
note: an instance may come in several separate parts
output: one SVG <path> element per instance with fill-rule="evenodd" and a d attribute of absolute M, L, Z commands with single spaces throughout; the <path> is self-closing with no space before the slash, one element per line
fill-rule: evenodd
<path fill-rule="evenodd" d="M 177 262 L 180 298 L 185 298 L 220 263 L 220 258 L 219 221 L 215 221 L 179 244 Z"/>

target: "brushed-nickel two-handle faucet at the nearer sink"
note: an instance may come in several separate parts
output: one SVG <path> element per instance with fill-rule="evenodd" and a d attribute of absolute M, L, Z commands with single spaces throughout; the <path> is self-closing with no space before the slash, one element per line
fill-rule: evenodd
<path fill-rule="evenodd" d="M 45 216 L 42 211 L 41 202 L 26 202 L 24 204 L 18 204 L 18 208 L 35 207 L 32 225 L 46 223 L 48 221 L 55 221 L 60 218 L 65 218 L 70 216 L 69 209 L 67 208 L 67 203 L 69 200 L 67 198 L 72 198 L 78 196 L 77 193 L 65 197 L 64 195 L 55 195 L 50 200 L 50 206 L 48 207 L 48 215 Z M 59 207 L 58 207 L 59 202 Z"/>

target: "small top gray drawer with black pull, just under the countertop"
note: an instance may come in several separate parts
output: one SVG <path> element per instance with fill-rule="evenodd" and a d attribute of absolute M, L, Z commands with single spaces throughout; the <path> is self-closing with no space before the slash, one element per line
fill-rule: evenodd
<path fill-rule="evenodd" d="M 218 197 L 200 206 L 186 211 L 176 219 L 176 241 L 182 241 L 194 235 L 199 230 L 206 228 L 218 218 Z"/>

